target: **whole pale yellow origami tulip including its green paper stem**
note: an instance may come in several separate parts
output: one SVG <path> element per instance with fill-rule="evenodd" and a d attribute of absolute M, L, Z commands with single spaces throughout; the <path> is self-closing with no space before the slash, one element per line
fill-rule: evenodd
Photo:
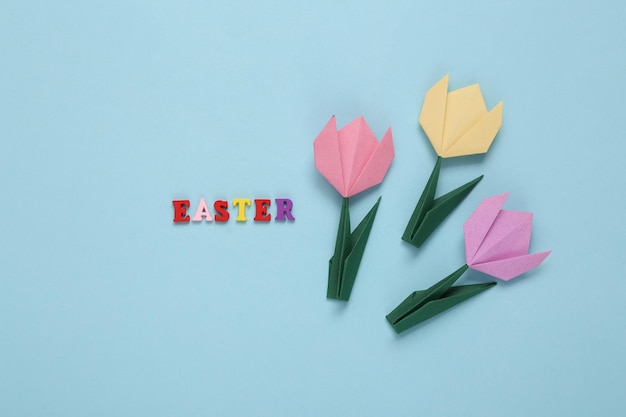
<path fill-rule="evenodd" d="M 437 162 L 402 239 L 420 247 L 461 204 L 482 175 L 435 199 L 442 158 L 485 153 L 502 125 L 502 102 L 487 112 L 478 84 L 448 93 L 448 76 L 424 98 L 420 124 L 437 152 Z"/>

